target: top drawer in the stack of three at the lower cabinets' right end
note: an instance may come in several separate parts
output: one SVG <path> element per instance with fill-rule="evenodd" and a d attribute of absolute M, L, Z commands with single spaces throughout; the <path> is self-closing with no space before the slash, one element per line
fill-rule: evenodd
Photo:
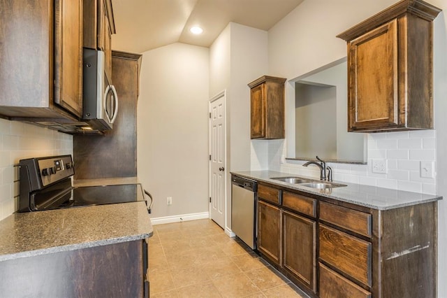
<path fill-rule="evenodd" d="M 320 219 L 360 235 L 372 236 L 372 215 L 365 212 L 321 201 Z"/>

